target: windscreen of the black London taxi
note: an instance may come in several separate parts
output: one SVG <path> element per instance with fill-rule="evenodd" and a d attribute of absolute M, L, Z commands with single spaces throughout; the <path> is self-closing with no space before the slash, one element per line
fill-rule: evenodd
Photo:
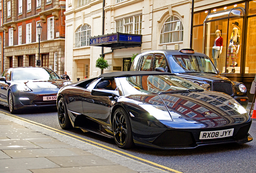
<path fill-rule="evenodd" d="M 168 55 L 174 73 L 199 72 L 218 74 L 211 60 L 206 56 Z"/>

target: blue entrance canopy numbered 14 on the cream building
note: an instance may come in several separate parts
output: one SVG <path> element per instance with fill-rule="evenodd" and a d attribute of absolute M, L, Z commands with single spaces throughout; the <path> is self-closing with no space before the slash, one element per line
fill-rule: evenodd
<path fill-rule="evenodd" d="M 142 35 L 112 33 L 90 37 L 90 46 L 111 47 L 111 49 L 137 47 L 142 44 Z"/>

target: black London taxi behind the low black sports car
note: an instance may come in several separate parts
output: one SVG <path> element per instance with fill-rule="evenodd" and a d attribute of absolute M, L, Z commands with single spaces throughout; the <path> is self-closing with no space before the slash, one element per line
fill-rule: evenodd
<path fill-rule="evenodd" d="M 162 71 L 175 73 L 209 91 L 225 93 L 244 108 L 248 105 L 246 86 L 221 76 L 211 59 L 193 49 L 151 50 L 138 54 L 130 71 Z"/>

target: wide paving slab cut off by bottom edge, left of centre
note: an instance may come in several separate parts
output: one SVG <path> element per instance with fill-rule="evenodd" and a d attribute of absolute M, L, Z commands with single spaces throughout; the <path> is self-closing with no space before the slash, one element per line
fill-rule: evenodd
<path fill-rule="evenodd" d="M 121 165 L 88 166 L 88 167 L 67 167 L 52 169 L 31 169 L 33 173 L 138 173 Z"/>

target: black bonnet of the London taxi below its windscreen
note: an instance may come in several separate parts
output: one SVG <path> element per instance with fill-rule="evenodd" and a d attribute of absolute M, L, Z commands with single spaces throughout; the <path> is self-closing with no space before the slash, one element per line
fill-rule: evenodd
<path fill-rule="evenodd" d="M 213 80 L 229 80 L 225 76 L 219 74 L 210 74 L 210 73 L 199 73 L 199 72 L 186 72 L 186 73 L 175 73 L 182 78 L 186 78 L 192 81 L 208 81 L 212 82 Z"/>

